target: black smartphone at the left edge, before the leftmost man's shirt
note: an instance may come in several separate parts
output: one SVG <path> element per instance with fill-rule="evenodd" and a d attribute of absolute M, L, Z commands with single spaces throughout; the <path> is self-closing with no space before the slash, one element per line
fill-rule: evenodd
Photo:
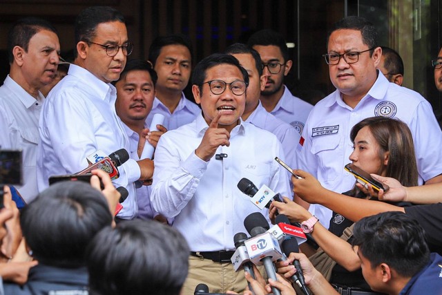
<path fill-rule="evenodd" d="M 22 185 L 22 152 L 0 150 L 0 184 Z"/>

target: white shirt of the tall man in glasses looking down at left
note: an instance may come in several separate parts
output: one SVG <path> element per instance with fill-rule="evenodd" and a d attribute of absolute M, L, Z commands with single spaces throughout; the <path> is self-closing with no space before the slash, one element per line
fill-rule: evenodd
<path fill-rule="evenodd" d="M 88 166 L 86 157 L 100 150 L 109 155 L 119 149 L 129 151 L 130 143 L 115 112 L 117 91 L 88 70 L 71 64 L 68 75 L 50 91 L 39 122 L 37 153 L 39 190 L 48 187 L 51 175 L 76 173 Z M 137 216 L 135 185 L 140 166 L 133 159 L 118 167 L 115 187 L 126 187 L 128 198 L 118 217 Z"/>

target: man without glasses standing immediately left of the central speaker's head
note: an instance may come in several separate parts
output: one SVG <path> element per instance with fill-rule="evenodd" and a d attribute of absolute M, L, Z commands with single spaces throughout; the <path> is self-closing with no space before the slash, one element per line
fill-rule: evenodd
<path fill-rule="evenodd" d="M 149 48 L 149 61 L 158 75 L 156 97 L 147 125 L 151 126 L 153 115 L 160 113 L 168 130 L 195 120 L 201 109 L 186 99 L 182 92 L 189 84 L 192 70 L 192 46 L 185 35 L 157 37 Z"/>

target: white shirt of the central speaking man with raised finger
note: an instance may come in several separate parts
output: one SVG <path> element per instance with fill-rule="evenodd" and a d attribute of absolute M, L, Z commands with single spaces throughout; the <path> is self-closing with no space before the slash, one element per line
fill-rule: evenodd
<path fill-rule="evenodd" d="M 184 235 L 191 251 L 235 249 L 233 236 L 247 232 L 244 218 L 260 209 L 238 189 L 242 178 L 291 196 L 287 174 L 273 160 L 283 155 L 275 135 L 241 122 L 230 133 L 230 146 L 216 151 L 227 158 L 214 156 L 204 162 L 195 149 L 208 127 L 198 115 L 194 122 L 164 133 L 155 151 L 153 209 L 175 217 L 173 227 Z M 267 209 L 262 213 L 268 217 Z"/>

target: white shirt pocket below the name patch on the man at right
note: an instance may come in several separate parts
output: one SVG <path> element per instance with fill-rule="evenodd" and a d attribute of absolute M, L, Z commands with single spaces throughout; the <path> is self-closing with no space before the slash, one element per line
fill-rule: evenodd
<path fill-rule="evenodd" d="M 340 146 L 340 136 L 323 135 L 311 142 L 311 153 L 318 163 L 318 179 L 320 182 L 332 184 L 342 174 L 343 146 Z M 308 165 L 309 163 L 307 163 Z"/>

